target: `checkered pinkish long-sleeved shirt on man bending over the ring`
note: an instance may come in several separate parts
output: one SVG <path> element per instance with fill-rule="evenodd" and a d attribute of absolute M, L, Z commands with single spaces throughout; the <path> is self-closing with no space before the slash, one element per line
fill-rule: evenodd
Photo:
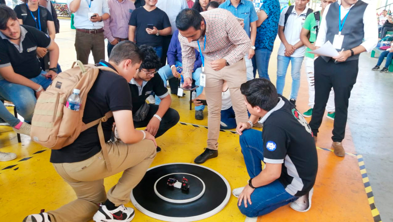
<path fill-rule="evenodd" d="M 206 48 L 203 46 L 204 36 L 198 41 L 206 59 L 225 59 L 233 65 L 246 55 L 251 48 L 251 40 L 230 11 L 213 9 L 200 14 L 206 21 Z M 189 43 L 180 33 L 179 41 L 182 46 L 183 75 L 184 78 L 191 78 L 195 62 L 194 49 L 199 51 L 198 43 Z"/>

